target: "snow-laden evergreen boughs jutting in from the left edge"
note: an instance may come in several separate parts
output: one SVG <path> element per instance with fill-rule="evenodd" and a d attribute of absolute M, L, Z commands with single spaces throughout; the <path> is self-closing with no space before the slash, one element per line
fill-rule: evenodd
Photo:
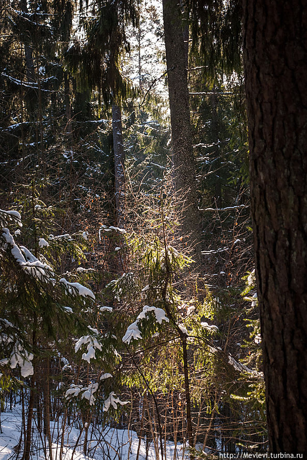
<path fill-rule="evenodd" d="M 16 217 L 4 213 L 11 215 Z M 11 223 L 16 224 L 14 219 Z M 17 366 L 25 378 L 35 373 L 43 357 L 53 359 L 50 339 L 63 341 L 69 334 L 85 331 L 80 311 L 93 304 L 95 295 L 83 284 L 61 278 L 38 250 L 34 255 L 16 243 L 7 227 L 0 229 L 0 262 L 0 372 L 11 375 Z"/>

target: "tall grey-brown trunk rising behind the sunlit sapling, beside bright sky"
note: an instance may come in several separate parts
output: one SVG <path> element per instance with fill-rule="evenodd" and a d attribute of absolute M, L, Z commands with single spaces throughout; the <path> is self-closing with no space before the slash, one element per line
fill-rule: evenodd
<path fill-rule="evenodd" d="M 195 162 L 190 122 L 187 59 L 180 3 L 163 0 L 163 20 L 167 62 L 168 93 L 173 144 L 173 166 L 177 200 L 182 200 L 184 243 L 193 248 L 200 261 L 199 212 Z M 188 239 L 188 235 L 190 235 Z"/>

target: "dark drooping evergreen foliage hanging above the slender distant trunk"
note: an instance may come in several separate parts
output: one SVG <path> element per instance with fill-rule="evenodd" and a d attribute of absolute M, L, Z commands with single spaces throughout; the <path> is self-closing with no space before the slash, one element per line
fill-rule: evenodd
<path fill-rule="evenodd" d="M 81 21 L 86 43 L 74 42 L 66 51 L 65 60 L 73 73 L 78 74 L 81 88 L 98 89 L 108 106 L 135 95 L 135 90 L 120 71 L 120 53 L 130 52 L 125 26 L 138 21 L 131 1 L 103 1 L 92 6 L 95 16 Z"/>

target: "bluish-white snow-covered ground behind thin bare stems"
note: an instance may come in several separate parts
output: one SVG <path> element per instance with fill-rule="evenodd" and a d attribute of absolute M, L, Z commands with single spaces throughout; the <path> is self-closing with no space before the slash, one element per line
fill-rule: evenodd
<path fill-rule="evenodd" d="M 1 432 L 0 432 L 0 460 L 9 460 L 17 457 L 18 443 L 21 436 L 21 406 L 16 405 L 10 410 L 6 409 L 1 413 Z M 66 427 L 64 433 L 62 460 L 136 460 L 139 447 L 139 460 L 146 459 L 145 441 L 139 438 L 135 431 L 121 430 L 116 428 L 105 427 L 89 428 L 88 439 L 88 456 L 83 454 L 84 436 L 79 438 L 79 427 L 70 425 Z M 53 460 L 60 459 L 60 445 L 62 439 L 62 420 L 51 423 L 51 432 L 53 438 Z M 77 444 L 77 447 L 74 447 Z M 160 443 L 157 443 L 160 448 Z M 44 460 L 49 458 L 48 448 L 47 454 L 44 453 L 43 445 L 48 446 L 47 439 L 44 435 L 40 436 L 34 423 L 33 429 L 33 449 L 32 460 Z M 139 446 L 140 445 L 140 446 Z M 164 449 L 163 445 L 163 449 Z M 21 448 L 18 458 L 22 457 L 23 451 L 23 436 Z M 182 460 L 187 458 L 187 450 L 182 444 L 166 443 L 167 460 Z M 165 455 L 165 454 L 164 454 Z M 148 449 L 148 460 L 157 458 L 154 445 L 151 443 Z M 160 454 L 161 458 L 161 454 Z"/>

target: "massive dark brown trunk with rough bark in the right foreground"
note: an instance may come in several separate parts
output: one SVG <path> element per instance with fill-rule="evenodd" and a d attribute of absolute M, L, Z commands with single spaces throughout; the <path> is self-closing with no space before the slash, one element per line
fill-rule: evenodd
<path fill-rule="evenodd" d="M 269 444 L 307 452 L 307 2 L 243 0 Z"/>

